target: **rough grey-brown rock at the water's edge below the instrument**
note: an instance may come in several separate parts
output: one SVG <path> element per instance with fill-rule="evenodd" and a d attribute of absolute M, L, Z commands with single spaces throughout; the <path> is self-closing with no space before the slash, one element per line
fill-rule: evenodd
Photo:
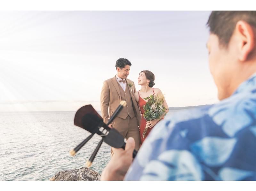
<path fill-rule="evenodd" d="M 100 174 L 90 168 L 82 167 L 58 172 L 50 180 L 100 180 Z"/>

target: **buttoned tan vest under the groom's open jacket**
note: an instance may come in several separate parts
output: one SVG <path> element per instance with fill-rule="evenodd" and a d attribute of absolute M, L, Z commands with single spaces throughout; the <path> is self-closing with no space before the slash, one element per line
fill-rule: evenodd
<path fill-rule="evenodd" d="M 133 107 L 132 107 L 132 97 L 131 97 L 130 91 L 128 89 L 129 87 L 127 86 L 127 83 L 126 83 L 125 91 L 123 90 L 123 88 L 120 86 L 119 83 L 118 83 L 118 87 L 119 87 L 119 90 L 121 93 L 121 100 L 126 101 L 126 107 L 120 111 L 120 113 L 117 115 L 117 117 L 126 119 L 127 116 L 129 115 L 130 118 L 133 118 L 135 116 L 135 114 L 134 114 Z"/>

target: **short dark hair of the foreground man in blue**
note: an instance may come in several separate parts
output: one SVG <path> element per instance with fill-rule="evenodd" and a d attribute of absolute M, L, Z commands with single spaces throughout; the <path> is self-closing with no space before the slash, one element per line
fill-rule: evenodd
<path fill-rule="evenodd" d="M 212 11 L 207 26 L 210 27 L 212 34 L 218 36 L 220 45 L 228 47 L 229 40 L 239 20 L 256 27 L 256 11 Z"/>

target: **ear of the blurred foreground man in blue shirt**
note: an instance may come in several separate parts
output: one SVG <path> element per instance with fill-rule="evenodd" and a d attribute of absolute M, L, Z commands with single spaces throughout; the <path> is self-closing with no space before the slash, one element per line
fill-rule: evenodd
<path fill-rule="evenodd" d="M 242 62 L 248 59 L 248 55 L 255 48 L 255 35 L 253 27 L 245 21 L 238 21 L 236 23 L 235 33 L 239 41 L 238 45 L 238 59 Z"/>

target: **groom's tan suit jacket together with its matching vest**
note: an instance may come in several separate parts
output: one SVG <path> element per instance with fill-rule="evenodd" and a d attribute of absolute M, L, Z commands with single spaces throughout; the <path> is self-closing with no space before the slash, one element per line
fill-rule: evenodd
<path fill-rule="evenodd" d="M 107 123 L 108 119 L 112 116 L 113 112 L 119 106 L 120 102 L 122 100 L 125 100 L 127 102 L 128 107 L 126 106 L 124 109 L 122 109 L 120 113 L 117 115 L 117 117 L 122 119 L 125 119 L 128 116 L 130 116 L 130 118 L 136 117 L 137 126 L 140 126 L 141 117 L 140 117 L 139 107 L 134 98 L 134 93 L 136 92 L 134 82 L 129 79 L 125 79 L 125 80 L 126 80 L 125 91 L 123 91 L 121 86 L 116 81 L 116 76 L 108 80 L 105 80 L 103 82 L 103 87 L 100 95 L 100 108 L 101 108 L 102 118 L 104 123 Z M 130 87 L 129 84 L 131 84 L 132 87 Z M 129 108 L 129 106 L 131 107 Z M 120 124 L 118 129 L 119 128 L 122 128 L 122 124 Z"/>

